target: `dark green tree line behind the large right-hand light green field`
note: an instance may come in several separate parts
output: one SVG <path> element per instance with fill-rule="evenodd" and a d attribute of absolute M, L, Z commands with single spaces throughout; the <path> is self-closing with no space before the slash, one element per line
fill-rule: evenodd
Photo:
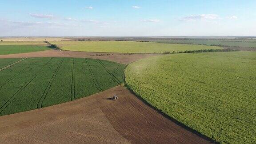
<path fill-rule="evenodd" d="M 165 51 L 163 52 L 164 54 L 170 54 L 170 53 L 196 53 L 196 52 L 236 52 L 240 51 L 239 49 L 231 49 L 231 48 L 226 48 L 226 49 L 200 49 L 200 50 L 187 50 L 184 52 L 168 52 Z"/>

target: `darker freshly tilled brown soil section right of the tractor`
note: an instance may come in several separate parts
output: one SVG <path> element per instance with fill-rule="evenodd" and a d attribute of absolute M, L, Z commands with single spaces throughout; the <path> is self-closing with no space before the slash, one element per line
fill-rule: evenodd
<path fill-rule="evenodd" d="M 121 90 L 120 90 L 121 91 Z M 113 127 L 131 143 L 137 144 L 207 144 L 194 130 L 175 120 L 168 120 L 136 96 L 127 93 L 118 101 L 105 104 L 100 109 Z M 124 96 L 124 97 L 121 97 Z"/>

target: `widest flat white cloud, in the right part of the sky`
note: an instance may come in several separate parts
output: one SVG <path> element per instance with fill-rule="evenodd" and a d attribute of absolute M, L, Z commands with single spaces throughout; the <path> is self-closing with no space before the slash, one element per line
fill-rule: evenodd
<path fill-rule="evenodd" d="M 180 18 L 180 21 L 196 21 L 196 20 L 217 20 L 220 16 L 216 14 L 190 15 Z"/>

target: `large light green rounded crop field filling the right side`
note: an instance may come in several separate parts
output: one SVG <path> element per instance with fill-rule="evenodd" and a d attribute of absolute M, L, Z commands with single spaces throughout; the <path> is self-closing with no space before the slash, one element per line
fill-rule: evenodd
<path fill-rule="evenodd" d="M 220 143 L 256 143 L 256 52 L 154 56 L 126 83 L 149 104 Z"/>

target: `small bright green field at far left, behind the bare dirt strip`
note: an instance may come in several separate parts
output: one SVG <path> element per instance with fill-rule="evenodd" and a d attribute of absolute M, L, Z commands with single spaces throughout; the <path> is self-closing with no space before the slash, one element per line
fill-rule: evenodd
<path fill-rule="evenodd" d="M 42 45 L 0 45 L 0 55 L 8 55 L 25 52 L 38 52 L 52 49 L 50 46 Z"/>

